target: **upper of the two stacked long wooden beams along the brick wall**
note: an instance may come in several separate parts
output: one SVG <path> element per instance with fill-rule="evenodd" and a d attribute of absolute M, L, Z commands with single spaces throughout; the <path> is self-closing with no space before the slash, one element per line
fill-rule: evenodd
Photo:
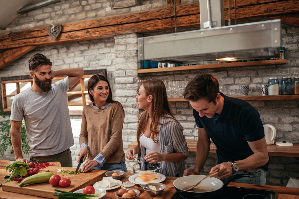
<path fill-rule="evenodd" d="M 232 0 L 231 0 L 232 1 Z M 237 1 L 237 19 L 238 21 L 243 18 L 252 17 L 252 14 L 259 13 L 260 15 L 278 15 L 285 13 L 295 13 L 299 12 L 298 1 L 296 0 L 286 0 L 286 1 L 274 1 L 274 0 L 238 0 Z M 272 6 L 271 6 L 272 5 Z M 270 6 L 270 7 L 269 7 Z M 231 7 L 234 7 L 234 4 L 231 3 Z M 268 8 L 269 7 L 269 8 Z M 225 10 L 226 15 L 228 10 L 228 2 L 225 1 Z M 252 10 L 255 10 L 253 13 Z M 266 10 L 266 13 L 262 13 Z M 245 11 L 243 13 L 243 11 Z M 234 9 L 231 10 L 231 13 L 234 14 Z M 180 16 L 192 16 L 199 14 L 199 4 L 187 4 L 180 5 L 176 7 L 176 14 Z M 174 16 L 173 7 L 148 10 L 138 13 L 129 13 L 111 17 L 104 17 L 100 19 L 87 20 L 83 22 L 74 22 L 69 24 L 63 24 L 61 34 L 65 32 L 72 32 L 77 30 L 87 30 L 91 28 L 104 27 L 104 26 L 114 26 L 114 25 L 123 25 L 142 21 L 154 21 L 157 19 L 166 19 L 173 18 Z M 257 15 L 257 14 L 255 14 Z M 150 17 L 150 18 L 149 18 Z M 159 29 L 157 29 L 158 31 Z M 3 41 L 13 41 L 33 37 L 43 37 L 48 36 L 47 28 L 35 28 L 24 30 L 14 33 L 4 33 L 0 35 L 0 42 Z M 57 41 L 58 42 L 58 41 Z"/>

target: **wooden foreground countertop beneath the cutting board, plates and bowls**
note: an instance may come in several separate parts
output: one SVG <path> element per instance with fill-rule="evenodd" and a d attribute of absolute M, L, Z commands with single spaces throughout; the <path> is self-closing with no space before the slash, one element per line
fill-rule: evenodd
<path fill-rule="evenodd" d="M 0 183 L 5 182 L 6 179 L 3 178 L 4 175 L 10 174 L 9 172 L 5 171 L 5 166 L 9 165 L 12 163 L 12 161 L 8 160 L 0 160 Z M 49 166 L 51 167 L 51 166 Z M 94 173 L 100 172 L 100 171 L 92 171 Z M 129 177 L 133 175 L 134 173 L 125 173 L 124 177 L 121 179 L 122 182 L 129 181 Z M 104 177 L 104 173 L 101 174 L 101 177 Z M 166 177 L 166 180 L 162 183 L 164 183 L 167 187 L 166 189 L 162 192 L 161 195 L 158 195 L 156 197 L 152 197 L 148 195 L 144 190 L 140 187 L 135 185 L 135 189 L 138 189 L 141 193 L 138 196 L 138 198 L 148 198 L 148 199 L 167 199 L 171 198 L 176 190 L 173 187 L 173 181 L 177 177 Z M 51 187 L 49 183 L 42 183 L 46 187 Z M 93 183 L 92 183 L 93 184 Z M 90 184 L 90 185 L 92 185 Z M 40 184 L 41 185 L 41 184 Z M 246 187 L 246 188 L 254 188 L 254 189 L 268 189 L 268 190 L 276 190 L 278 192 L 278 199 L 299 199 L 299 189 L 298 188 L 288 188 L 288 187 L 280 187 L 280 186 L 267 186 L 267 185 L 254 185 L 254 184 L 244 184 L 244 183 L 229 183 L 229 186 L 236 186 L 236 187 Z M 118 188 L 120 189 L 120 188 Z M 113 198 L 116 199 L 115 192 L 118 189 L 114 190 L 109 190 L 107 191 L 107 194 L 103 198 Z M 38 189 L 36 189 L 36 192 L 38 192 Z M 53 193 L 54 193 L 54 187 L 53 187 Z M 14 192 L 7 192 L 3 191 L 2 187 L 0 187 L 0 199 L 19 199 L 19 198 L 26 198 L 26 199 L 40 199 L 43 197 L 37 197 L 37 196 L 32 196 L 32 195 L 25 195 L 21 193 L 14 193 Z"/>

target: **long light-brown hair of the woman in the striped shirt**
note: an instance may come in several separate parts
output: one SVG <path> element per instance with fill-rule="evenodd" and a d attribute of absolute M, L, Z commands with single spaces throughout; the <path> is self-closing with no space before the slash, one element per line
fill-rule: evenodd
<path fill-rule="evenodd" d="M 149 120 L 149 115 L 152 116 L 152 122 L 150 123 L 150 132 L 152 140 L 155 143 L 158 142 L 158 132 L 156 131 L 159 123 L 160 117 L 171 118 L 178 122 L 173 116 L 173 112 L 169 106 L 167 99 L 166 88 L 164 82 L 160 79 L 147 79 L 141 82 L 141 85 L 144 87 L 144 91 L 147 95 L 152 95 L 152 104 L 149 107 L 149 111 L 143 111 L 138 115 L 138 125 L 137 125 L 137 143 L 140 146 L 139 138 L 144 132 L 147 122 Z M 170 115 L 166 116 L 166 115 Z M 171 121 L 167 122 L 170 123 Z M 165 123 L 165 124 L 167 124 Z"/>

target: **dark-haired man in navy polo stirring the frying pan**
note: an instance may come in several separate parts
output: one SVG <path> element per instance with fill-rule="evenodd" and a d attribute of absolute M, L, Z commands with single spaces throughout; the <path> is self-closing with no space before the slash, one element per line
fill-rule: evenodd
<path fill-rule="evenodd" d="M 210 177 L 227 178 L 239 173 L 252 174 L 234 182 L 266 184 L 269 155 L 260 115 L 248 102 L 225 96 L 219 92 L 219 82 L 211 74 L 197 75 L 183 93 L 193 108 L 198 127 L 196 162 L 194 171 L 199 174 L 210 151 L 210 138 L 217 147 L 217 165 Z"/>

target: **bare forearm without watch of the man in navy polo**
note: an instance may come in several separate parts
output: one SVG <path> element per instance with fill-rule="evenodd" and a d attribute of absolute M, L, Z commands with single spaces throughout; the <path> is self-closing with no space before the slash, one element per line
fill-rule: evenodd
<path fill-rule="evenodd" d="M 208 154 L 210 151 L 210 143 L 201 142 L 200 140 L 196 143 L 196 160 L 195 160 L 195 168 L 194 172 L 197 174 L 200 173 L 202 167 L 204 166 Z"/>

